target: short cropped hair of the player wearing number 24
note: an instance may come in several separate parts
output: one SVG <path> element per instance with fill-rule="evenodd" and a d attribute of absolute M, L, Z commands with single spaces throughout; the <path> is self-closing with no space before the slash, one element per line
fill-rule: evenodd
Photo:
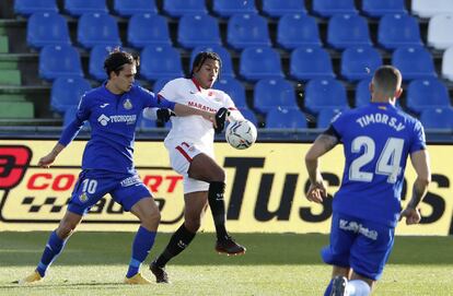
<path fill-rule="evenodd" d="M 382 66 L 373 76 L 374 87 L 382 93 L 393 95 L 402 86 L 402 73 L 393 66 Z"/>

